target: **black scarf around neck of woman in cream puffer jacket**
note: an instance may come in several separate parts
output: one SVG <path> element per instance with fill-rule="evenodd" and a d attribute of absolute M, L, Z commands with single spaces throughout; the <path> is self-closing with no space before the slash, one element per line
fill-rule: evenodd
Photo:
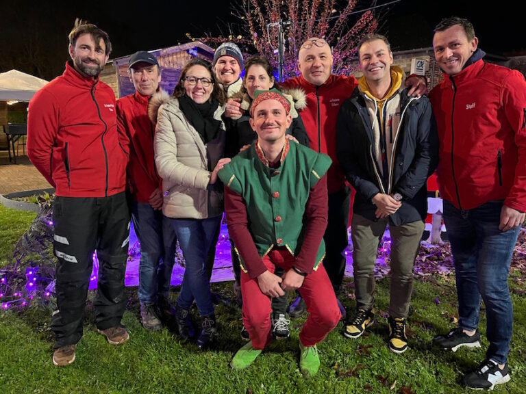
<path fill-rule="evenodd" d="M 203 104 L 198 104 L 186 94 L 179 97 L 179 108 L 199 133 L 204 144 L 214 140 L 221 128 L 221 120 L 214 119 L 214 112 L 218 106 L 218 101 L 213 98 Z"/>

